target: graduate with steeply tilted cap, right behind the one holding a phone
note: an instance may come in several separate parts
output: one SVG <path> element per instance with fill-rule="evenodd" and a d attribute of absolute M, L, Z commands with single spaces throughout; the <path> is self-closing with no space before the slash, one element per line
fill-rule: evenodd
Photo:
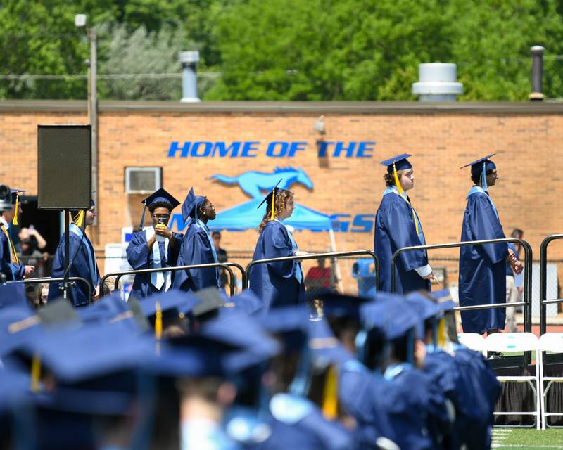
<path fill-rule="evenodd" d="M 188 230 L 182 239 L 178 256 L 178 266 L 196 264 L 212 264 L 219 262 L 213 238 L 207 226 L 208 221 L 215 219 L 215 206 L 203 195 L 195 195 L 191 188 L 182 205 L 184 223 L 191 219 Z M 194 292 L 204 288 L 220 288 L 219 268 L 190 269 L 177 271 L 173 283 L 174 288 L 186 292 Z"/>

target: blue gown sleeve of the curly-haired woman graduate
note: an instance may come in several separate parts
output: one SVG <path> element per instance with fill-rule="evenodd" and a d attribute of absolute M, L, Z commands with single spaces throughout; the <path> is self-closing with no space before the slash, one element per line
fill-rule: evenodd
<path fill-rule="evenodd" d="M 262 235 L 264 259 L 294 256 L 291 240 L 283 225 L 271 222 L 262 231 Z M 267 266 L 282 278 L 295 276 L 297 265 L 295 260 L 267 263 Z"/>

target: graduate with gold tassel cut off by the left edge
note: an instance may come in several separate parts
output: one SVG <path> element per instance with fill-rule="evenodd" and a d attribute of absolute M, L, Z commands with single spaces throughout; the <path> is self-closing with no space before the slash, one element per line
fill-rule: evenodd
<path fill-rule="evenodd" d="M 0 212 L 0 273 L 6 276 L 6 281 L 18 281 L 34 271 L 34 266 L 24 266 L 18 261 L 12 239 L 8 229 L 11 224 L 18 224 L 18 214 L 21 213 L 18 193 L 20 189 L 11 190 L 12 209 Z"/>

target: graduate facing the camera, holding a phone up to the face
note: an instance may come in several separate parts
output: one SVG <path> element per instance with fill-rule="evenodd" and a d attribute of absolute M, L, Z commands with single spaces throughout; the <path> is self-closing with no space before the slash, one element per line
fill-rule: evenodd
<path fill-rule="evenodd" d="M 182 234 L 172 233 L 168 229 L 168 221 L 172 210 L 180 204 L 179 201 L 160 188 L 145 198 L 143 203 L 145 209 L 141 227 L 144 224 L 147 207 L 153 224 L 147 229 L 133 233 L 131 242 L 127 245 L 127 261 L 135 270 L 175 266 Z M 168 290 L 172 285 L 172 278 L 174 278 L 172 272 L 137 274 L 131 295 L 140 299 Z"/>

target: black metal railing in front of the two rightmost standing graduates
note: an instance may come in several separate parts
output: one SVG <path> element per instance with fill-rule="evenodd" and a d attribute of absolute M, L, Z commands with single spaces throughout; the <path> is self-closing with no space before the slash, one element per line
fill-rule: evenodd
<path fill-rule="evenodd" d="M 498 304 L 476 304 L 468 307 L 455 307 L 457 311 L 469 311 L 472 309 L 492 309 L 506 307 L 524 307 L 524 331 L 531 333 L 532 330 L 532 248 L 526 240 L 517 238 L 487 239 L 487 240 L 467 240 L 464 242 L 434 244 L 434 245 L 415 245 L 413 247 L 403 247 L 393 254 L 391 259 L 391 292 L 395 292 L 395 266 L 397 257 L 411 250 L 436 250 L 438 248 L 455 248 L 466 245 L 483 245 L 496 243 L 520 243 L 524 248 L 524 301 L 514 303 Z"/>

